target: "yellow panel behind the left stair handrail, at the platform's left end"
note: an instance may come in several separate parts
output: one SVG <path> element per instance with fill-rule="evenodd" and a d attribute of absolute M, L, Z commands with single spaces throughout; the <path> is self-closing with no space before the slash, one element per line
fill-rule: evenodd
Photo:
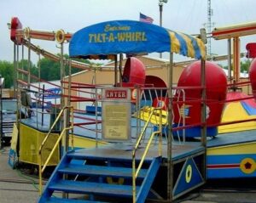
<path fill-rule="evenodd" d="M 47 133 L 43 133 L 20 123 L 20 161 L 38 165 L 38 149 L 42 144 Z M 52 133 L 42 151 L 43 163 L 49 156 L 59 134 Z M 49 161 L 48 166 L 55 166 L 60 161 L 60 149 L 55 149 L 54 155 Z"/>

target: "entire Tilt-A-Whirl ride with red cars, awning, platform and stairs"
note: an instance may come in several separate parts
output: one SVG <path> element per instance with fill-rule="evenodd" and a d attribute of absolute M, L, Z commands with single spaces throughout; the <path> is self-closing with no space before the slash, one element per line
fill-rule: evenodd
<path fill-rule="evenodd" d="M 247 34 L 255 34 L 253 25 L 245 26 Z M 236 39 L 237 76 L 240 49 L 235 41 L 241 36 L 241 27 L 216 29 L 212 37 L 225 38 L 225 33 Z M 38 166 L 38 202 L 171 202 L 208 178 L 254 178 L 256 118 L 244 111 L 246 121 L 240 117 L 225 120 L 234 103 L 244 104 L 241 110 L 247 106 L 254 112 L 254 97 L 238 91 L 239 86 L 250 83 L 239 82 L 236 76 L 236 82 L 230 83 L 224 70 L 206 61 L 204 38 L 203 31 L 192 37 L 133 20 L 102 22 L 74 34 L 33 31 L 22 29 L 20 20 L 13 18 L 16 95 L 23 116 L 20 113 L 17 121 L 9 162 L 14 166 L 19 157 L 20 162 Z M 60 56 L 38 48 L 31 39 L 56 40 Z M 70 59 L 63 56 L 64 42 L 69 42 Z M 45 110 L 44 95 L 55 98 L 56 93 L 42 88 L 40 76 L 19 67 L 19 46 L 22 50 L 27 47 L 28 60 L 34 51 L 39 57 L 60 61 L 60 104 L 51 103 Z M 147 76 L 145 66 L 136 58 L 163 52 L 170 55 L 167 82 Z M 124 70 L 123 54 L 127 56 Z M 173 54 L 200 59 L 183 70 L 177 86 L 172 78 Z M 73 61 L 75 58 L 113 59 L 113 84 L 73 81 L 72 67 L 96 69 Z M 65 66 L 69 67 L 68 76 L 64 75 Z M 254 62 L 250 70 L 253 89 L 255 67 Z M 31 78 L 37 79 L 38 85 Z M 32 107 L 31 99 L 36 100 L 36 106 Z M 87 104 L 86 110 L 75 110 L 81 103 Z M 229 129 L 237 123 L 245 126 Z M 55 166 L 55 171 L 43 189 L 42 174 L 47 166 Z"/>

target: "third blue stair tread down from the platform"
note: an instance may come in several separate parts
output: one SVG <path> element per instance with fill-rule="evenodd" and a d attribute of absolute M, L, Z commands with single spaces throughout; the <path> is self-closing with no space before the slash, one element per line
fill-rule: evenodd
<path fill-rule="evenodd" d="M 140 187 L 137 187 L 137 189 L 139 188 Z M 50 184 L 48 189 L 74 194 L 106 195 L 125 198 L 132 197 L 131 185 L 59 180 L 57 183 Z"/>

